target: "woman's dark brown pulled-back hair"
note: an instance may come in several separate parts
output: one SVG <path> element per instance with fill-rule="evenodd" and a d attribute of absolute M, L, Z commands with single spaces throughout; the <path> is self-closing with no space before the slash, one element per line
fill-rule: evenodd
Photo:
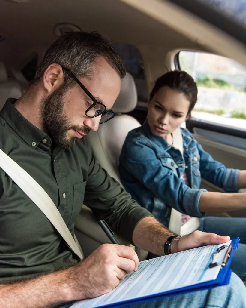
<path fill-rule="evenodd" d="M 197 102 L 197 84 L 195 80 L 184 71 L 170 71 L 159 77 L 150 93 L 150 100 L 162 87 L 170 87 L 171 89 L 184 93 L 189 99 L 188 115 Z"/>

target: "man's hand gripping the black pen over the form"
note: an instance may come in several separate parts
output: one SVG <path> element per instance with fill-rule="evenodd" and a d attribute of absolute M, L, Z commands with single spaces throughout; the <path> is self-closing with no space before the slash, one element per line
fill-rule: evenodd
<path fill-rule="evenodd" d="M 108 293 L 120 280 L 137 270 L 139 259 L 131 247 L 103 244 L 89 257 L 69 269 L 68 285 L 73 300 Z"/>

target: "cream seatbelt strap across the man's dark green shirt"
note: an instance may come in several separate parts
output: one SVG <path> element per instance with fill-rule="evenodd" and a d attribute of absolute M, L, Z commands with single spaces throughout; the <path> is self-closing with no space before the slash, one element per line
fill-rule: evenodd
<path fill-rule="evenodd" d="M 82 251 L 75 239 L 72 237 L 67 225 L 57 207 L 45 192 L 45 190 L 29 175 L 21 166 L 0 149 L 0 167 L 11 177 L 11 179 L 23 190 L 25 194 L 45 214 L 52 225 L 63 237 L 70 249 L 83 259 Z"/>

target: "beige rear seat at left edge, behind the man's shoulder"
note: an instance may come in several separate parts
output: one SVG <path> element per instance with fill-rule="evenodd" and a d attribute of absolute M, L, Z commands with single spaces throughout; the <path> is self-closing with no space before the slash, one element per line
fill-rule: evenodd
<path fill-rule="evenodd" d="M 0 61 L 0 110 L 9 97 L 20 98 L 24 93 L 21 85 L 15 79 L 8 79 L 6 67 Z"/>

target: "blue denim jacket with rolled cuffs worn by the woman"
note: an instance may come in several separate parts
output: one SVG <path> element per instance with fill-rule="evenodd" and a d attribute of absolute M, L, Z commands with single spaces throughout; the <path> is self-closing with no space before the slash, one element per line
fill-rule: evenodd
<path fill-rule="evenodd" d="M 152 134 L 147 121 L 128 133 L 122 148 L 119 173 L 132 198 L 164 225 L 169 225 L 171 208 L 193 217 L 203 217 L 199 200 L 201 178 L 237 192 L 240 170 L 227 169 L 203 150 L 187 130 L 182 130 L 184 153 L 163 137 Z M 180 178 L 186 172 L 189 186 Z"/>

